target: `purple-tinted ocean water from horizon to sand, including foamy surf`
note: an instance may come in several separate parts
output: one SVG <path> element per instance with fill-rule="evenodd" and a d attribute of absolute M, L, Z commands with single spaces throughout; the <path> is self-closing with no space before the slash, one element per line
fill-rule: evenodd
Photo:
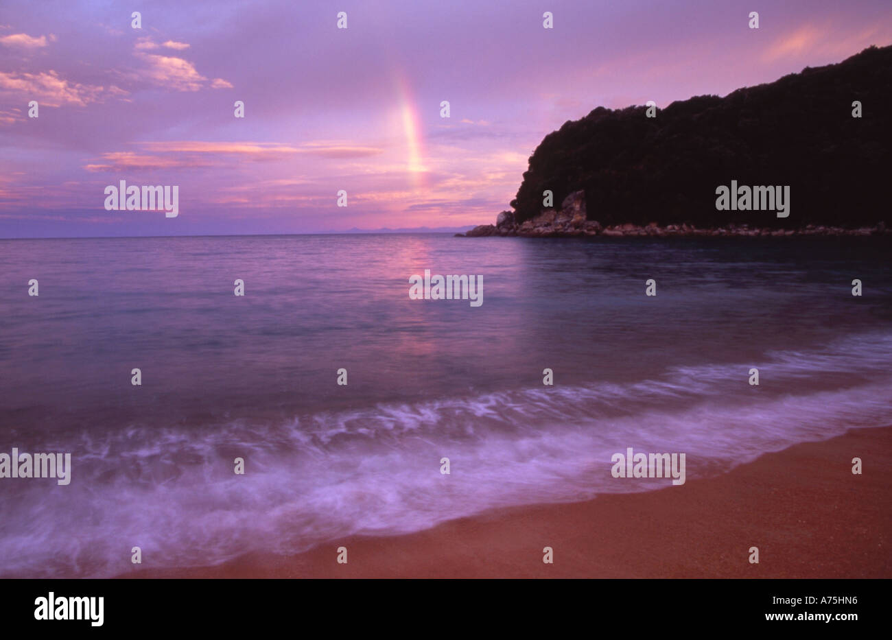
<path fill-rule="evenodd" d="M 295 554 L 671 486 L 614 478 L 626 447 L 685 453 L 690 481 L 892 424 L 889 249 L 881 237 L 0 241 L 0 453 L 71 454 L 67 486 L 0 479 L 0 576 L 120 575 L 134 546 L 161 568 Z M 425 269 L 482 275 L 483 304 L 409 299 Z"/>

